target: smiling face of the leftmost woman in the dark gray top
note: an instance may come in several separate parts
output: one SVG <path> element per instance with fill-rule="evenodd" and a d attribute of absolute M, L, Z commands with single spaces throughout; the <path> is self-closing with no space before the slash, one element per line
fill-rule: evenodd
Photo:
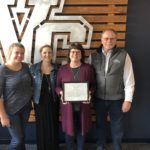
<path fill-rule="evenodd" d="M 24 59 L 25 49 L 22 47 L 14 46 L 10 50 L 9 60 L 12 63 L 21 63 Z"/>

